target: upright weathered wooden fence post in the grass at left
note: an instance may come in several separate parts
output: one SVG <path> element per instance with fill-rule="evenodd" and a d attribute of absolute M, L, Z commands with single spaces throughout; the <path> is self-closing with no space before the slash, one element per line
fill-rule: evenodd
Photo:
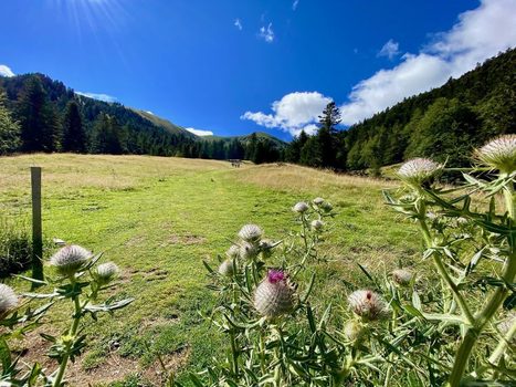
<path fill-rule="evenodd" d="M 31 167 L 32 278 L 43 280 L 43 231 L 41 221 L 41 167 Z M 34 286 L 34 283 L 32 284 Z"/>

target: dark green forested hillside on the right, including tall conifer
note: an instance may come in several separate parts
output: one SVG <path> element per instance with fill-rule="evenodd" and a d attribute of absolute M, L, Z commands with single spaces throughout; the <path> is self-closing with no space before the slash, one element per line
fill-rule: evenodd
<path fill-rule="evenodd" d="M 287 160 L 359 170 L 425 156 L 447 159 L 449 166 L 464 166 L 473 147 L 516 132 L 516 50 L 347 130 L 336 129 L 339 112 L 330 105 L 315 136 L 302 133 L 291 143 Z"/>

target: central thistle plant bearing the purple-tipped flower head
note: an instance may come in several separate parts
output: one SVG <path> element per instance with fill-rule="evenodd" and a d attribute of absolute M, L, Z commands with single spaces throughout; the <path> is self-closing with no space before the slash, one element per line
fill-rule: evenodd
<path fill-rule="evenodd" d="M 285 240 L 274 242 L 259 226 L 246 224 L 225 258 L 219 257 L 217 270 L 204 262 L 213 280 L 210 287 L 220 300 L 208 318 L 228 335 L 229 351 L 227 362 L 218 362 L 218 367 L 200 376 L 192 375 L 196 385 L 328 386 L 330 375 L 322 376 L 317 369 L 322 358 L 335 357 L 335 353 L 326 351 L 325 322 L 316 324 L 307 303 L 314 276 L 301 286 L 293 279 L 307 269 L 305 263 L 295 262 L 298 257 L 305 261 L 316 257 L 316 242 L 324 231 L 322 219 L 330 212 L 322 206 L 323 199 L 293 207 L 305 233 L 299 239 L 295 238 L 299 234 L 292 234 L 287 248 L 280 248 Z"/>

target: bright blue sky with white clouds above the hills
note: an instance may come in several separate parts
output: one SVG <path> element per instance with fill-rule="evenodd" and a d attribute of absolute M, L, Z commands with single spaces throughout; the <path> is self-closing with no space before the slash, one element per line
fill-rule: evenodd
<path fill-rule="evenodd" d="M 516 0 L 2 0 L 0 74 L 217 135 L 346 125 L 516 45 Z"/>

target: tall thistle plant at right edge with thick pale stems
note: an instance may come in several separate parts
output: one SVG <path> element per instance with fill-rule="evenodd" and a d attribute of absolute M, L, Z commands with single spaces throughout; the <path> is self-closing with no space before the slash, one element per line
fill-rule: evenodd
<path fill-rule="evenodd" d="M 453 333 L 453 341 L 443 343 L 454 353 L 449 364 L 443 362 L 447 356 L 430 354 L 451 387 L 515 379 L 509 343 L 516 328 L 508 328 L 505 335 L 493 334 L 493 325 L 514 307 L 515 300 L 516 136 L 488 142 L 474 157 L 477 165 L 463 172 L 465 184 L 461 187 L 439 187 L 434 180 L 446 171 L 444 166 L 414 159 L 399 170 L 406 184 L 401 197 L 385 194 L 389 205 L 419 224 L 425 245 L 423 258 L 432 260 L 440 278 L 441 302 L 424 310 L 414 300 L 410 310 L 433 322 L 429 328 L 441 335 Z M 433 219 L 429 211 L 435 215 Z M 402 280 L 403 275 L 398 272 L 396 278 Z M 480 343 L 488 356 L 482 356 Z"/>

